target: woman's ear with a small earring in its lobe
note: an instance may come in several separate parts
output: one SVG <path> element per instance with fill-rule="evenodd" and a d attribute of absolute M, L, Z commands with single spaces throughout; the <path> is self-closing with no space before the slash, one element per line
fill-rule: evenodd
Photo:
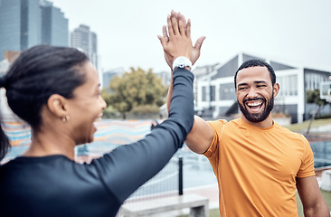
<path fill-rule="evenodd" d="M 66 117 L 69 113 L 67 99 L 59 94 L 52 94 L 47 100 L 47 107 L 54 116 Z"/>

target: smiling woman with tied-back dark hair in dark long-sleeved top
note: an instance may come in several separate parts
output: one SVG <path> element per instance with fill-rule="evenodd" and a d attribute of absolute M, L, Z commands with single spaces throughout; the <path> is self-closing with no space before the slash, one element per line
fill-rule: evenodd
<path fill-rule="evenodd" d="M 169 56 L 190 57 L 189 34 L 182 28 L 168 42 Z M 179 46 L 182 45 L 182 46 Z M 115 216 L 120 205 L 169 161 L 194 121 L 190 71 L 173 74 L 174 93 L 167 118 L 147 137 L 93 160 L 73 161 L 74 147 L 93 141 L 93 123 L 106 108 L 98 73 L 73 48 L 39 45 L 22 52 L 0 85 L 14 113 L 29 123 L 33 140 L 23 156 L 0 166 L 1 216 Z M 8 139 L 1 130 L 1 157 Z"/>

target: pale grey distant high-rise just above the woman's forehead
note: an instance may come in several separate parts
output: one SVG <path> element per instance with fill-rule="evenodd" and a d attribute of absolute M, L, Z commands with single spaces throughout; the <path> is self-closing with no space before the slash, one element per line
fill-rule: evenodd
<path fill-rule="evenodd" d="M 80 24 L 80 27 L 71 33 L 71 46 L 84 52 L 98 69 L 98 38 L 90 31 L 90 27 Z"/>

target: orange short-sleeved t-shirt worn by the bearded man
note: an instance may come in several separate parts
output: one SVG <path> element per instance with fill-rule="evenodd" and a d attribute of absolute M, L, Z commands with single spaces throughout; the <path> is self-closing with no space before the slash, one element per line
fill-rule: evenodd
<path fill-rule="evenodd" d="M 226 216 L 298 216 L 296 178 L 315 175 L 307 139 L 275 123 L 251 126 L 241 118 L 210 121 L 207 156 Z"/>

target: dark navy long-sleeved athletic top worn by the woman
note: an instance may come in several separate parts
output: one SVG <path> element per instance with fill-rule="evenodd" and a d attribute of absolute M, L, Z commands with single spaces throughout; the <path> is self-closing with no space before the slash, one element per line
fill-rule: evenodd
<path fill-rule="evenodd" d="M 182 146 L 194 123 L 194 75 L 174 71 L 169 118 L 147 137 L 90 164 L 66 156 L 19 156 L 0 166 L 0 216 L 115 216 Z"/>

